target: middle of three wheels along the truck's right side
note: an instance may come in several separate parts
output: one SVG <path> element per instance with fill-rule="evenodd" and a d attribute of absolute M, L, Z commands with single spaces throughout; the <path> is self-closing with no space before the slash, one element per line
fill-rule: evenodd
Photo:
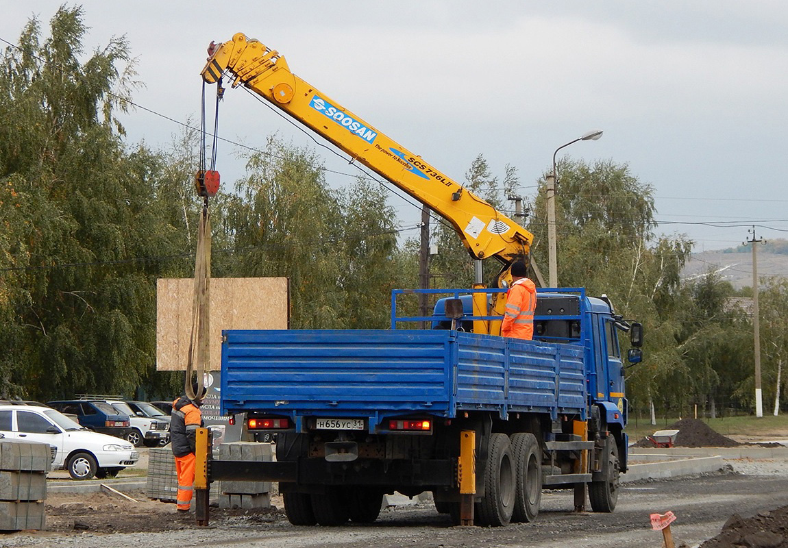
<path fill-rule="evenodd" d="M 533 434 L 511 436 L 511 452 L 515 458 L 515 523 L 533 521 L 541 502 L 541 450 Z"/>

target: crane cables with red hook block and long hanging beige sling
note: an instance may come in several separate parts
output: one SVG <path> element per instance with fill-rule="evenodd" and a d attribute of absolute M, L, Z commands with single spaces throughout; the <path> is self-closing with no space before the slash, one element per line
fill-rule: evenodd
<path fill-rule="evenodd" d="M 216 148 L 219 127 L 219 102 L 224 94 L 221 79 L 217 85 L 214 113 L 214 141 L 211 146 L 210 170 L 206 170 L 205 82 L 203 82 L 203 113 L 200 124 L 199 171 L 195 176 L 197 194 L 203 198 L 197 228 L 195 252 L 195 284 L 191 303 L 191 335 L 184 375 L 184 393 L 190 400 L 202 399 L 207 391 L 206 371 L 210 371 L 210 212 L 209 198 L 218 191 Z M 195 377 L 193 379 L 193 377 Z M 196 390 L 192 386 L 195 383 Z"/>

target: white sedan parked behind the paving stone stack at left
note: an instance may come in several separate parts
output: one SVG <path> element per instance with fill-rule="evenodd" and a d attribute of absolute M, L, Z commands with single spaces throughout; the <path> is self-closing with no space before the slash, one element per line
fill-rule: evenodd
<path fill-rule="evenodd" d="M 130 443 L 87 430 L 47 407 L 0 405 L 0 434 L 57 447 L 52 469 L 65 468 L 74 480 L 114 477 L 139 461 Z"/>

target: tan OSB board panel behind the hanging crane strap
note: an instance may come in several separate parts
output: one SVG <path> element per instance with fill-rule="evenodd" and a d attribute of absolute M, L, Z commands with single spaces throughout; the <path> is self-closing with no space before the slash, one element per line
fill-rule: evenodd
<path fill-rule="evenodd" d="M 156 283 L 156 369 L 185 371 L 194 280 Z M 287 278 L 210 279 L 210 371 L 221 369 L 222 329 L 287 329 Z"/>

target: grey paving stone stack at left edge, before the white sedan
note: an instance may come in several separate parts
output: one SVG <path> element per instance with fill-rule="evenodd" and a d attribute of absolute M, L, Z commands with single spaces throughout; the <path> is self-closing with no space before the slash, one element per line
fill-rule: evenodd
<path fill-rule="evenodd" d="M 0 530 L 44 528 L 50 462 L 46 443 L 0 439 Z"/>

